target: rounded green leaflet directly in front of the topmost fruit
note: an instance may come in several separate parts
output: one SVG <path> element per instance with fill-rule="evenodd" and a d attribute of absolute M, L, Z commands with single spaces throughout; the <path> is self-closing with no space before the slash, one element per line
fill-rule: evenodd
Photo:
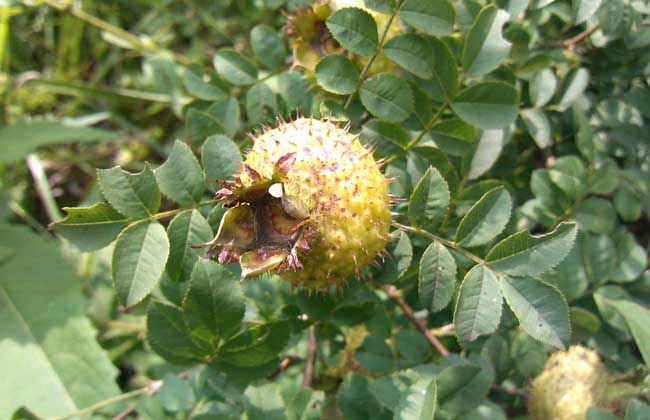
<path fill-rule="evenodd" d="M 346 50 L 360 55 L 377 52 L 377 23 L 368 12 L 346 7 L 327 18 L 325 24 L 334 39 Z"/>

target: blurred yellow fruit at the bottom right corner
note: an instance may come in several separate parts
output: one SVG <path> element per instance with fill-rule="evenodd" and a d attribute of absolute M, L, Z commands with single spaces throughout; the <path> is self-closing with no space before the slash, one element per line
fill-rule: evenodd
<path fill-rule="evenodd" d="M 530 391 L 533 420 L 584 420 L 589 407 L 607 408 L 610 382 L 598 354 L 582 346 L 549 357 Z"/>

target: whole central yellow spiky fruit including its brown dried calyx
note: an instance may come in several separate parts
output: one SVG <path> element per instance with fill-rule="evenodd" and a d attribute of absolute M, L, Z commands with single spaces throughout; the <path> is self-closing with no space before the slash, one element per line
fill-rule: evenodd
<path fill-rule="evenodd" d="M 242 278 L 278 272 L 310 290 L 341 286 L 382 256 L 388 181 L 358 136 L 299 118 L 253 141 L 241 173 L 217 192 L 232 208 L 209 256 L 238 260 Z"/>

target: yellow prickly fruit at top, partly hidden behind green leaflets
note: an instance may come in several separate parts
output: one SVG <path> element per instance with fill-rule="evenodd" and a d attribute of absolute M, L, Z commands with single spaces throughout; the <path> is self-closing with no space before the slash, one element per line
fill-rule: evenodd
<path fill-rule="evenodd" d="M 336 11 L 356 7 L 362 9 L 375 19 L 378 35 L 381 35 L 389 24 L 390 16 L 379 13 L 365 7 L 363 0 L 321 0 L 313 6 L 305 7 L 289 16 L 287 32 L 293 50 L 293 61 L 295 65 L 302 67 L 308 76 L 313 77 L 316 65 L 321 58 L 328 54 L 341 54 L 344 49 L 334 40 L 327 29 L 325 21 Z M 402 28 L 397 19 L 394 19 L 386 33 L 386 41 L 400 34 Z M 361 70 L 370 57 L 347 54 L 355 65 Z M 392 61 L 383 54 L 377 56 L 368 71 L 368 75 L 391 71 L 395 68 Z"/>

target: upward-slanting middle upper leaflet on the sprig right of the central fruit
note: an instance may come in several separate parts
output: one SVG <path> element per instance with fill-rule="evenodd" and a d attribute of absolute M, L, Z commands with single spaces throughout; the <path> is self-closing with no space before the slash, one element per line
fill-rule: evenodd
<path fill-rule="evenodd" d="M 485 245 L 503 231 L 511 211 L 508 190 L 499 187 L 487 192 L 460 221 L 456 242 L 465 247 Z"/>

